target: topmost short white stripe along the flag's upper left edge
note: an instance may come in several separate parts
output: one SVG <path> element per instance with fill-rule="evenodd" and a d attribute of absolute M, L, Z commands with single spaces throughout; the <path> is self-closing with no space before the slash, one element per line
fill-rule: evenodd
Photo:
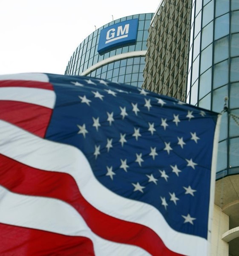
<path fill-rule="evenodd" d="M 0 80 L 25 80 L 25 81 L 38 81 L 38 82 L 49 82 L 49 78 L 44 73 L 19 73 L 1 75 Z"/>

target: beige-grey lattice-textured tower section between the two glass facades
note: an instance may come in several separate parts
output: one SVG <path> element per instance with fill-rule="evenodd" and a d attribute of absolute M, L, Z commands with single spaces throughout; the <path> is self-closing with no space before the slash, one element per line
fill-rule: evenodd
<path fill-rule="evenodd" d="M 185 100 L 191 0 L 161 1 L 147 40 L 143 87 Z"/>

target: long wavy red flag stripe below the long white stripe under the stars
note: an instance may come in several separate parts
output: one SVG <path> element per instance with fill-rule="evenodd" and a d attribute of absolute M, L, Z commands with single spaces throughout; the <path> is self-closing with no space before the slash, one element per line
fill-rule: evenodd
<path fill-rule="evenodd" d="M 66 201 L 81 214 L 89 228 L 104 239 L 133 244 L 152 255 L 179 255 L 167 249 L 158 235 L 148 227 L 113 218 L 92 207 L 68 174 L 34 169 L 0 155 L 0 183 L 15 193 Z"/>

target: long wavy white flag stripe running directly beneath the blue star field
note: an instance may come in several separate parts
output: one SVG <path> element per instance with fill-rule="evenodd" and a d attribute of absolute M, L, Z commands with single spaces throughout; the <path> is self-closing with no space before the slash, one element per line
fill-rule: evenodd
<path fill-rule="evenodd" d="M 102 186 L 77 148 L 38 138 L 4 121 L 0 121 L 0 131 L 1 154 L 37 169 L 69 173 L 95 208 L 115 218 L 150 227 L 174 252 L 190 256 L 207 254 L 206 239 L 176 232 L 154 207 L 123 198 Z"/>

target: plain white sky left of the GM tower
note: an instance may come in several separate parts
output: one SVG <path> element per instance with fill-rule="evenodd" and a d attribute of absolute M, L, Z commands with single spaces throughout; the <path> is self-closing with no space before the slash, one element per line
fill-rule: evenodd
<path fill-rule="evenodd" d="M 0 75 L 64 74 L 78 45 L 104 24 L 155 12 L 159 0 L 0 0 Z"/>

